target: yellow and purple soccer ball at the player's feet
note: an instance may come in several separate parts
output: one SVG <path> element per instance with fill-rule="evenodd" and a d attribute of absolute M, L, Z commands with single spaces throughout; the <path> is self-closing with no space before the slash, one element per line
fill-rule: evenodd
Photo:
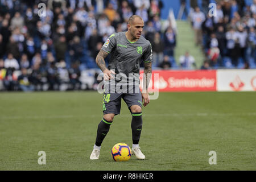
<path fill-rule="evenodd" d="M 131 148 L 126 143 L 117 143 L 111 150 L 115 161 L 126 161 L 131 158 Z"/>

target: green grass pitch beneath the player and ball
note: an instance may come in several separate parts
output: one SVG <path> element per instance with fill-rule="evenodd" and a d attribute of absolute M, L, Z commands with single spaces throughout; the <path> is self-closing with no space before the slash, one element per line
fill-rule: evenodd
<path fill-rule="evenodd" d="M 118 142 L 132 144 L 123 101 L 100 159 L 89 159 L 101 103 L 97 92 L 0 93 L 0 170 L 256 169 L 256 92 L 160 93 L 142 110 L 146 159 L 127 162 L 114 162 L 110 152 Z M 38 164 L 39 151 L 46 165 Z"/>

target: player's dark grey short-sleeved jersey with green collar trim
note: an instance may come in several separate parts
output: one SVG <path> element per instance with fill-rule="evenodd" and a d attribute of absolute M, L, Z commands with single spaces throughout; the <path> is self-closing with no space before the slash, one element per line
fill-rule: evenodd
<path fill-rule="evenodd" d="M 114 33 L 109 36 L 101 49 L 110 53 L 108 69 L 114 69 L 117 74 L 123 73 L 127 76 L 127 80 L 130 74 L 130 76 L 137 75 L 134 78 L 138 81 L 141 61 L 144 63 L 152 61 L 151 44 L 143 36 L 136 42 L 130 42 L 125 32 Z M 130 82 L 131 79 L 128 81 Z"/>

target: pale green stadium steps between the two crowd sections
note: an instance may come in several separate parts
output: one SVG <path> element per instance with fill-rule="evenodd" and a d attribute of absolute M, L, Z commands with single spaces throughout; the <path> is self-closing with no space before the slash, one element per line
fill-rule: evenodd
<path fill-rule="evenodd" d="M 184 55 L 185 51 L 195 58 L 196 68 L 200 69 L 204 61 L 204 53 L 200 47 L 195 46 L 195 34 L 188 21 L 176 20 L 177 22 L 177 37 L 175 48 L 176 64 L 179 64 L 179 57 Z"/>

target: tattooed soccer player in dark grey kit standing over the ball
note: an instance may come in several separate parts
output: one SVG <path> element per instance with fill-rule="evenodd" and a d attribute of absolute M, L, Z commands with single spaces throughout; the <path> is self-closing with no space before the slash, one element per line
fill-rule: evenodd
<path fill-rule="evenodd" d="M 99 158 L 101 143 L 108 134 L 114 116 L 120 113 L 121 98 L 126 102 L 132 115 L 131 153 L 137 159 L 145 159 L 139 147 L 139 139 L 142 130 L 142 101 L 143 106 L 150 102 L 148 84 L 152 73 L 152 48 L 150 42 L 141 36 L 143 27 L 143 19 L 138 15 L 132 15 L 127 24 L 127 31 L 110 35 L 96 57 L 96 63 L 104 73 L 104 116 L 98 124 L 96 142 L 90 159 Z M 106 68 L 104 59 L 109 53 L 111 57 Z M 139 90 L 141 61 L 144 62 L 142 92 Z"/>

